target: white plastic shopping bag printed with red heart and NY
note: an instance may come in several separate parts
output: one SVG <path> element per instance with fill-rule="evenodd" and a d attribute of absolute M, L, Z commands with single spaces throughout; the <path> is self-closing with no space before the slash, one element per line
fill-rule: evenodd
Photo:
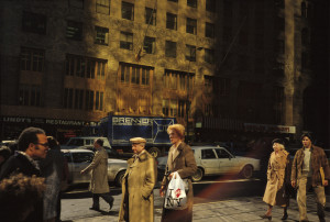
<path fill-rule="evenodd" d="M 185 184 L 176 171 L 173 174 L 173 177 L 168 184 L 164 208 L 172 210 L 183 210 L 187 208 Z"/>

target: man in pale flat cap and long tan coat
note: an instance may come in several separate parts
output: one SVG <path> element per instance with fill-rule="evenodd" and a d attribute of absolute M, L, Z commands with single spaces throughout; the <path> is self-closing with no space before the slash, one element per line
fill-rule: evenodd
<path fill-rule="evenodd" d="M 142 137 L 130 140 L 134 155 L 128 160 L 122 180 L 119 221 L 153 222 L 154 187 L 157 178 L 155 158 L 144 149 Z"/>

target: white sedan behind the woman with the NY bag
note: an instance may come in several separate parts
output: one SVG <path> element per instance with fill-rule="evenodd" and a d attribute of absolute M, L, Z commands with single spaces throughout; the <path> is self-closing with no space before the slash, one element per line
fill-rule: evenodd
<path fill-rule="evenodd" d="M 204 176 L 239 174 L 243 178 L 251 178 L 260 170 L 260 159 L 234 156 L 219 146 L 191 146 L 197 164 L 197 171 L 193 181 L 199 181 Z M 168 156 L 157 158 L 158 174 L 164 175 Z"/>

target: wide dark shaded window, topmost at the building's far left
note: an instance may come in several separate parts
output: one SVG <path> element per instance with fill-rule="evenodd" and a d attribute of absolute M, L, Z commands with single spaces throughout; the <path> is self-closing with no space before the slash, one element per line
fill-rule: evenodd
<path fill-rule="evenodd" d="M 43 14 L 23 12 L 22 27 L 24 32 L 46 34 L 47 18 Z"/>

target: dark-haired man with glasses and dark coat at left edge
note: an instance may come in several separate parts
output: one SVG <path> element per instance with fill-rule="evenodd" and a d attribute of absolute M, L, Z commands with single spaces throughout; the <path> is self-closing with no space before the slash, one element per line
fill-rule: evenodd
<path fill-rule="evenodd" d="M 45 132 L 38 127 L 28 127 L 21 133 L 18 145 L 19 151 L 16 151 L 1 167 L 0 180 L 19 173 L 22 173 L 28 177 L 32 177 L 33 175 L 40 177 L 40 168 L 35 160 L 46 157 L 48 142 Z M 25 221 L 43 221 L 42 201 L 37 201 L 33 208 L 34 211 Z"/>

